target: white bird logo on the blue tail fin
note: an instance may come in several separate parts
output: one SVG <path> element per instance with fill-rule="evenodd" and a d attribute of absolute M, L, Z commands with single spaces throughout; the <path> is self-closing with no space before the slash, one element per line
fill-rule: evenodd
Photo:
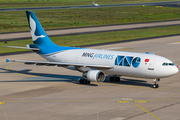
<path fill-rule="evenodd" d="M 36 31 L 36 22 L 32 19 L 31 15 L 29 15 L 29 24 L 31 28 L 31 35 L 33 41 L 36 41 L 38 38 L 44 38 L 44 35 L 36 36 L 35 31 Z"/>

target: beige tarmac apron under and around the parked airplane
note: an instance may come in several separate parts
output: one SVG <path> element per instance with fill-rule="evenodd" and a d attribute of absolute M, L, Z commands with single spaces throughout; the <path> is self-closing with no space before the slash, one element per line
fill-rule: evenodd
<path fill-rule="evenodd" d="M 88 48 L 150 52 L 180 65 L 180 36 Z M 180 72 L 153 80 L 78 83 L 82 74 L 62 67 L 6 63 L 44 60 L 35 53 L 0 56 L 0 120 L 180 120 Z"/>

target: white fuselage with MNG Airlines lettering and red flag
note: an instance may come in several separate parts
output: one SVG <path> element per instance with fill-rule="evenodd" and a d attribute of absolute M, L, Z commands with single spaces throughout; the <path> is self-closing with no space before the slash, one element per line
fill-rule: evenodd
<path fill-rule="evenodd" d="M 107 75 L 155 79 L 172 76 L 178 72 L 178 68 L 172 65 L 172 61 L 154 54 L 73 49 L 41 56 L 52 62 L 91 63 L 113 66 L 112 69 L 101 69 Z M 163 65 L 163 63 L 168 65 Z"/>

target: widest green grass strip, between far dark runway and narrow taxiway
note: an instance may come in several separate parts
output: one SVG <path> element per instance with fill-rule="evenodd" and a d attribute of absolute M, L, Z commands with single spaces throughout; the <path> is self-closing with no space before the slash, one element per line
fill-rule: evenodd
<path fill-rule="evenodd" d="M 44 29 L 180 20 L 180 8 L 128 6 L 34 11 Z M 29 31 L 24 11 L 0 12 L 0 33 Z"/>

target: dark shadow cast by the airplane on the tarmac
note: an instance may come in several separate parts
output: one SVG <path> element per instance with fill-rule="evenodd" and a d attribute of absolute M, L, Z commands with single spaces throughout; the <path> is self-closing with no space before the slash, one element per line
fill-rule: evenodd
<path fill-rule="evenodd" d="M 16 81 L 0 81 L 0 82 L 71 82 L 74 84 L 79 84 L 78 80 L 82 78 L 82 76 L 73 76 L 73 75 L 60 75 L 60 74 L 47 74 L 47 73 L 33 73 L 30 72 L 31 69 L 25 70 L 10 70 L 8 71 L 4 68 L 0 68 L 4 72 L 0 73 L 18 73 L 22 75 L 29 75 L 29 78 L 16 80 Z M 32 76 L 32 77 L 31 77 Z M 106 77 L 105 83 L 113 83 L 118 85 L 133 85 L 133 86 L 143 86 L 143 87 L 152 87 L 152 84 L 147 83 L 144 80 L 135 80 L 135 79 L 125 79 L 121 78 L 120 82 L 110 82 L 109 77 Z M 82 84 L 87 86 L 98 86 L 97 84 Z"/>

